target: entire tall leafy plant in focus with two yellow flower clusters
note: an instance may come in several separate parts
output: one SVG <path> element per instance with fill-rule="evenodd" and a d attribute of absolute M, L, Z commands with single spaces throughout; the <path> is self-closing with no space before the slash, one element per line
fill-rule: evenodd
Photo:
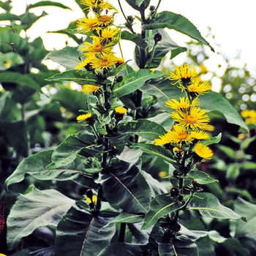
<path fill-rule="evenodd" d="M 24 159 L 5 184 L 11 187 L 29 174 L 42 181 L 72 181 L 75 187 L 64 195 L 53 183 L 19 195 L 7 218 L 10 249 L 38 227 L 51 226 L 54 246 L 34 253 L 204 255 L 207 243 L 214 255 L 223 237 L 203 228 L 203 219 L 244 219 L 203 192 L 203 185 L 217 180 L 197 165 L 213 157 L 211 144 L 221 139 L 207 132 L 211 112 L 246 125 L 210 83 L 200 81 L 196 67 L 176 67 L 169 78 L 152 70 L 168 52 L 173 58 L 186 50 L 165 28 L 211 48 L 182 15 L 158 12 L 160 2 L 153 7 L 148 0 L 127 0 L 140 12 L 141 33 L 135 34 L 135 17 L 125 15 L 121 4 L 126 23 L 115 26 L 118 10 L 110 2 L 82 0 L 86 16 L 72 32 L 86 35 L 85 41 L 48 54 L 68 68 L 48 80 L 76 81 L 85 94 L 77 117 L 81 130 L 55 149 Z M 138 69 L 117 56 L 121 39 L 135 42 Z M 76 62 L 72 69 L 70 62 Z M 155 161 L 161 162 L 165 182 L 151 173 Z"/>

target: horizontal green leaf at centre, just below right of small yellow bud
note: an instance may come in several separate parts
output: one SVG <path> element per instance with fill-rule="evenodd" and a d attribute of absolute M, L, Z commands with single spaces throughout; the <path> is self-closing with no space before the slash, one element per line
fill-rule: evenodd
<path fill-rule="evenodd" d="M 154 121 L 138 119 L 136 121 L 120 122 L 118 124 L 118 132 L 125 135 L 135 133 L 147 140 L 154 140 L 158 138 L 159 135 L 163 135 L 165 129 Z"/>

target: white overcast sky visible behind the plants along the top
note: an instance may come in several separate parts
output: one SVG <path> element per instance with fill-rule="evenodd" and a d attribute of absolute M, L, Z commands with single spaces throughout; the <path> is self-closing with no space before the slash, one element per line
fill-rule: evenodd
<path fill-rule="evenodd" d="M 47 31 L 54 31 L 57 29 L 65 29 L 71 20 L 77 20 L 83 15 L 79 11 L 79 7 L 75 3 L 75 0 L 55 0 L 65 4 L 72 8 L 70 10 L 62 10 L 58 7 L 39 7 L 34 8 L 33 11 L 39 15 L 42 10 L 48 12 L 48 16 L 45 16 L 37 21 L 33 29 L 29 30 L 30 37 L 38 37 L 42 35 L 45 40 L 45 47 L 48 50 L 64 48 L 67 37 L 60 37 L 56 34 L 45 34 Z M 113 5 L 118 7 L 117 0 L 109 0 Z M 26 4 L 33 4 L 38 0 L 12 0 L 12 4 L 15 7 L 15 13 L 21 13 L 24 11 Z M 125 0 L 121 0 L 121 4 L 124 5 L 124 10 L 127 15 L 133 15 Z M 151 5 L 156 5 L 157 0 L 151 0 Z M 221 52 L 225 55 L 233 58 L 236 56 L 238 50 L 241 50 L 241 65 L 247 64 L 249 69 L 256 69 L 255 61 L 255 24 L 256 24 L 256 0 L 162 0 L 159 11 L 169 10 L 176 12 L 188 18 L 200 31 L 203 37 L 206 36 L 208 31 L 207 27 L 211 27 L 212 33 L 215 35 L 215 42 L 221 45 Z M 121 13 L 119 14 L 121 18 Z M 170 31 L 172 39 L 178 43 L 178 45 L 186 46 L 187 36 L 184 36 L 176 31 Z M 208 42 L 217 50 L 219 48 L 214 45 L 215 42 Z M 72 41 L 69 42 L 72 45 Z M 207 47 L 205 47 L 207 48 Z M 126 48 L 127 49 L 127 48 Z M 207 49 L 211 52 L 209 49 Z M 127 56 L 131 53 L 127 52 Z M 183 56 L 186 53 L 182 53 Z M 182 59 L 182 54 L 180 59 Z M 218 56 L 216 53 L 210 53 L 210 61 L 208 66 L 217 65 Z"/>

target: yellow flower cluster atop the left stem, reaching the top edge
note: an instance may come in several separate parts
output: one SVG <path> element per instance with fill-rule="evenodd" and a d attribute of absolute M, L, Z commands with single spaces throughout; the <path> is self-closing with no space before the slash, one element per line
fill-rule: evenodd
<path fill-rule="evenodd" d="M 102 72 L 124 63 L 124 59 L 116 57 L 113 52 L 113 47 L 120 39 L 120 29 L 113 26 L 114 15 L 118 12 L 116 8 L 104 0 L 81 0 L 81 4 L 85 6 L 88 15 L 78 21 L 77 29 L 87 37 L 80 47 L 83 61 L 76 69 Z"/>

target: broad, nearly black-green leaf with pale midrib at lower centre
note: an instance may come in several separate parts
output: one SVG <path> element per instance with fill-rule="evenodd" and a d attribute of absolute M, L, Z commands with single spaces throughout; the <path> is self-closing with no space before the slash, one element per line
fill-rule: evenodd
<path fill-rule="evenodd" d="M 103 174 L 100 173 L 96 180 L 97 183 L 102 184 L 108 203 L 130 214 L 146 213 L 151 192 L 138 167 L 113 159 L 109 169 Z"/>

